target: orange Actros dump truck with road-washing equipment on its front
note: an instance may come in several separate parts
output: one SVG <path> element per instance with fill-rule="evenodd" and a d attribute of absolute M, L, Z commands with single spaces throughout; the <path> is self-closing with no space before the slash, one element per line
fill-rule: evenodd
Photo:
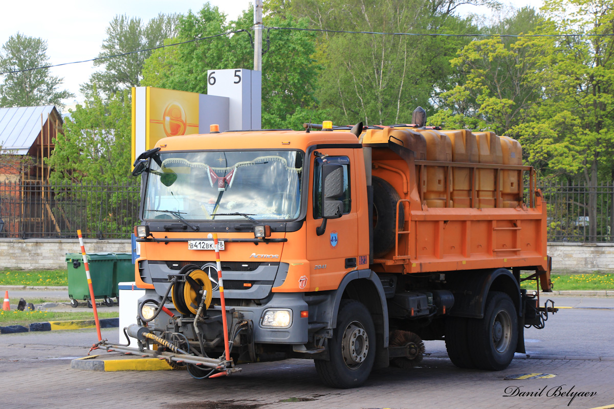
<path fill-rule="evenodd" d="M 417 125 L 161 139 L 142 153 L 138 345 L 195 378 L 313 359 L 359 386 L 445 340 L 501 370 L 543 327 L 546 204 L 516 140 Z M 535 291 L 520 288 L 530 270 Z"/>

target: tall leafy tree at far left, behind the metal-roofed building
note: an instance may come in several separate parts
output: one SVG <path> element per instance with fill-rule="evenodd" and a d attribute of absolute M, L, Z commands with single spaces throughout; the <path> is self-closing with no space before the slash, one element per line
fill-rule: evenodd
<path fill-rule="evenodd" d="M 20 32 L 10 36 L 0 52 L 0 72 L 29 71 L 5 74 L 0 85 L 0 106 L 55 105 L 61 110 L 62 100 L 74 94 L 58 90 L 63 78 L 50 75 L 49 69 L 33 69 L 48 65 L 47 41 Z"/>

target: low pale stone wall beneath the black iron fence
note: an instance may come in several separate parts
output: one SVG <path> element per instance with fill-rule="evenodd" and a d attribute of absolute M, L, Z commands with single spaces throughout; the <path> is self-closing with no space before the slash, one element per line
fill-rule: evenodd
<path fill-rule="evenodd" d="M 87 253 L 130 253 L 130 240 L 85 239 Z M 66 253 L 80 253 L 78 239 L 0 239 L 0 269 L 65 269 Z M 614 243 L 549 243 L 554 272 L 614 272 Z"/>

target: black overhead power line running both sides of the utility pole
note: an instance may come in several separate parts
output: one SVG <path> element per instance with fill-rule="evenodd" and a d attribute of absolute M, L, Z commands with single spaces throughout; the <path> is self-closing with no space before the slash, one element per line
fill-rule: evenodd
<path fill-rule="evenodd" d="M 343 33 L 343 34 L 376 34 L 380 36 L 419 36 L 419 37 L 515 37 L 515 38 L 523 38 L 523 37 L 612 37 L 614 36 L 614 34 L 443 34 L 440 32 L 417 33 L 417 32 L 346 31 L 346 30 L 330 30 L 330 29 L 323 29 L 323 28 L 298 28 L 298 27 L 269 27 L 267 29 L 268 30 L 338 32 L 338 33 Z M 214 34 L 213 36 L 200 37 L 198 39 L 187 40 L 187 41 L 178 42 L 175 44 L 160 45 L 159 47 L 153 47 L 153 48 L 144 48 L 143 50 L 136 50 L 136 51 L 131 51 L 128 53 L 107 55 L 104 57 L 84 59 L 82 61 L 72 61 L 71 63 L 53 64 L 49 66 L 27 68 L 27 69 L 16 70 L 16 71 L 5 71 L 5 72 L 0 72 L 0 75 L 17 74 L 19 72 L 27 72 L 27 71 L 34 71 L 37 69 L 47 69 L 47 68 L 52 68 L 52 67 L 67 66 L 71 64 L 89 63 L 91 61 L 98 61 L 100 59 L 121 57 L 124 55 L 130 55 L 134 53 L 142 53 L 146 51 L 158 50 L 160 48 L 174 47 L 175 45 L 188 44 L 188 43 L 195 42 L 195 41 L 212 39 L 214 37 L 228 36 L 230 34 L 235 34 L 237 32 L 247 32 L 247 35 L 250 37 L 250 40 L 251 40 L 252 35 L 250 34 L 250 32 L 244 29 L 240 29 L 236 31 L 221 32 L 219 34 Z"/>

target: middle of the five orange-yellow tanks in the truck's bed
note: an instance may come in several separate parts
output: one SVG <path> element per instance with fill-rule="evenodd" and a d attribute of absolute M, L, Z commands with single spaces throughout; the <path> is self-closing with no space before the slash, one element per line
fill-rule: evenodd
<path fill-rule="evenodd" d="M 440 131 L 446 134 L 452 143 L 452 160 L 454 162 L 478 162 L 478 142 L 475 135 L 467 129 Z M 471 207 L 472 170 L 468 167 L 452 169 L 452 206 Z"/>

